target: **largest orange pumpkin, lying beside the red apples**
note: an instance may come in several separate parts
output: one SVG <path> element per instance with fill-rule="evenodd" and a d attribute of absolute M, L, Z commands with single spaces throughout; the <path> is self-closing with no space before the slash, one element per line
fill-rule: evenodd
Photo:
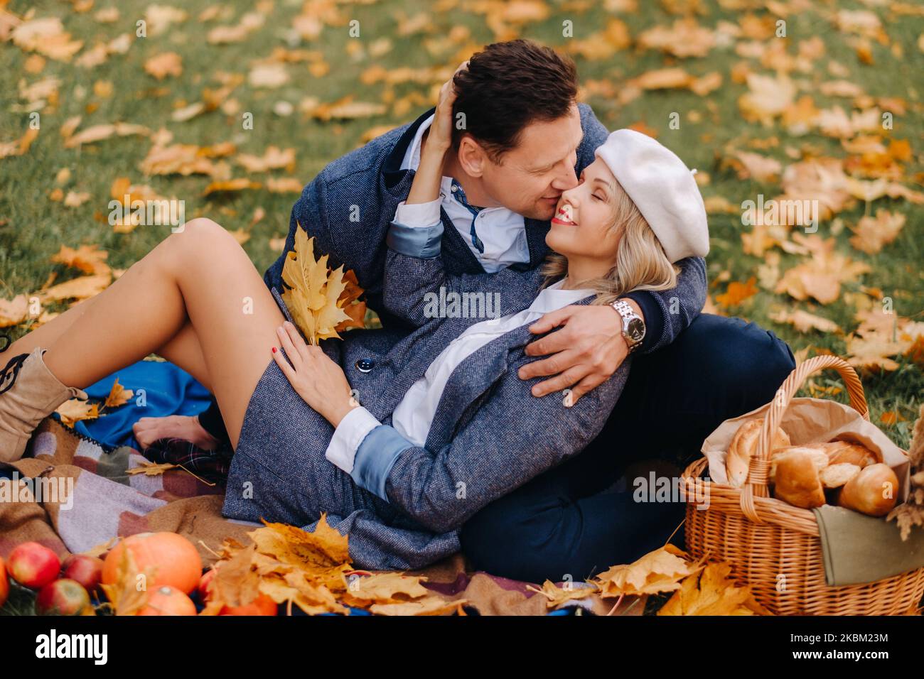
<path fill-rule="evenodd" d="M 125 550 L 131 550 L 138 573 L 151 569 L 149 588 L 169 585 L 188 594 L 199 584 L 202 559 L 192 542 L 176 533 L 139 533 L 119 541 L 103 561 L 103 584 L 116 582 Z"/>

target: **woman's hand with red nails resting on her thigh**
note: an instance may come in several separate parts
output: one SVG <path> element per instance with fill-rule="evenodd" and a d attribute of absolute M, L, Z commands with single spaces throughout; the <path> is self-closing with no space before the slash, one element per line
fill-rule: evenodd
<path fill-rule="evenodd" d="M 305 403 L 336 427 L 346 413 L 359 406 L 350 394 L 344 371 L 320 346 L 305 344 L 298 329 L 289 321 L 276 328 L 276 334 L 288 357 L 288 360 L 283 358 L 283 353 L 274 346 L 276 365 Z"/>

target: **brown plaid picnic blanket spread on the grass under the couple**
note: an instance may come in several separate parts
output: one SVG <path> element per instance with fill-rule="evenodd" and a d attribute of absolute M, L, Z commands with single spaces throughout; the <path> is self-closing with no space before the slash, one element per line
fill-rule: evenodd
<path fill-rule="evenodd" d="M 184 453 L 191 456 L 183 458 Z M 0 503 L 0 556 L 35 540 L 63 559 L 71 552 L 85 552 L 116 537 L 148 531 L 171 531 L 190 540 L 206 567 L 213 564 L 215 550 L 225 538 L 249 544 L 247 533 L 261 524 L 227 519 L 221 514 L 224 488 L 220 477 L 222 460 L 174 446 L 160 448 L 156 461 L 190 462 L 189 471 L 169 469 L 147 476 L 128 474 L 148 460 L 134 448 L 106 449 L 100 443 L 68 429 L 56 418 L 46 418 L 32 437 L 27 456 L 0 466 L 0 475 L 18 479 L 12 486 L 30 488 L 18 492 L 15 502 Z M 172 455 L 172 457 L 171 457 Z M 186 466 L 186 465 L 184 465 Z M 199 474 L 199 472 L 202 474 Z M 218 472 L 216 474 L 216 472 Z M 27 480 L 30 479 L 30 480 Z M 54 482 L 39 482 L 54 479 Z M 60 494 L 40 489 L 57 489 Z M 426 576 L 424 586 L 446 600 L 464 599 L 482 615 L 544 615 L 546 599 L 529 589 L 530 583 L 508 580 L 486 573 L 472 573 L 462 554 L 412 575 Z M 605 614 L 612 600 L 596 595 L 572 601 L 589 612 Z M 616 613 L 638 615 L 644 601 L 626 598 Z"/>

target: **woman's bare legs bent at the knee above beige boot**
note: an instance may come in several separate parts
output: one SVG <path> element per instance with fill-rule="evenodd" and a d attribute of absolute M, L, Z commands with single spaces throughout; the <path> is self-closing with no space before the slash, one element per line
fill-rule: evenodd
<path fill-rule="evenodd" d="M 61 382 L 80 388 L 163 347 L 189 321 L 235 446 L 284 320 L 247 253 L 206 219 L 168 236 L 75 315 L 44 360 Z M 172 358 L 201 372 L 190 357 Z"/>

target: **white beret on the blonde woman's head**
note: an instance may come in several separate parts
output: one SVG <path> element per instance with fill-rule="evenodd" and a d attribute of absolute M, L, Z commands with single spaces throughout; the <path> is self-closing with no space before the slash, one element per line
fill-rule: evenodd
<path fill-rule="evenodd" d="M 641 132 L 617 129 L 595 153 L 636 204 L 670 261 L 706 256 L 706 206 L 693 172 L 674 152 Z"/>

